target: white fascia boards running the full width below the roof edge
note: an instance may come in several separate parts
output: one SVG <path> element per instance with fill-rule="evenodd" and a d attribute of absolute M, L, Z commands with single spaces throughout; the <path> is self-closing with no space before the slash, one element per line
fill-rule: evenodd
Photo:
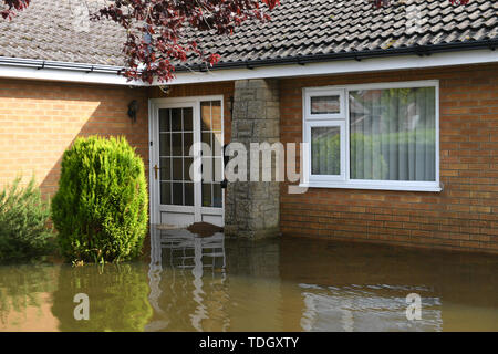
<path fill-rule="evenodd" d="M 158 85 L 181 85 L 220 81 L 299 77 L 328 74 L 366 73 L 394 70 L 427 69 L 453 65 L 471 65 L 498 62 L 498 51 L 470 50 L 459 52 L 433 53 L 432 55 L 400 55 L 355 60 L 338 60 L 320 63 L 280 64 L 255 69 L 219 69 L 209 72 L 178 72 L 176 79 Z M 27 79 L 59 82 L 95 83 L 128 86 L 151 86 L 139 81 L 128 82 L 117 75 L 122 67 L 64 63 L 43 60 L 0 58 L 0 77 Z"/>

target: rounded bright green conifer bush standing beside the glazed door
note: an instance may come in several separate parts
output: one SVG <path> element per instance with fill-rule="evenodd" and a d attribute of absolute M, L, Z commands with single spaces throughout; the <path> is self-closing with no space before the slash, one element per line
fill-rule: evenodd
<path fill-rule="evenodd" d="M 144 163 L 125 138 L 79 138 L 62 158 L 52 219 L 69 261 L 123 261 L 147 230 Z"/>

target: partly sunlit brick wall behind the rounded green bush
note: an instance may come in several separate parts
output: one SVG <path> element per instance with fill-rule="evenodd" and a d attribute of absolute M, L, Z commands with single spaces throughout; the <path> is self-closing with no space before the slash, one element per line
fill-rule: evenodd
<path fill-rule="evenodd" d="M 139 104 L 134 124 L 132 100 Z M 0 79 L 0 187 L 34 173 L 42 194 L 53 195 L 62 154 L 93 134 L 124 135 L 148 168 L 147 90 Z"/>

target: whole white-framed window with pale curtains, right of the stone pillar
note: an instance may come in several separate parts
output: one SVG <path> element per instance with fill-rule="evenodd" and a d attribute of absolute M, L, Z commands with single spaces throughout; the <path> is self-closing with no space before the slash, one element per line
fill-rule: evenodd
<path fill-rule="evenodd" d="M 308 187 L 439 191 L 438 83 L 304 90 Z"/>

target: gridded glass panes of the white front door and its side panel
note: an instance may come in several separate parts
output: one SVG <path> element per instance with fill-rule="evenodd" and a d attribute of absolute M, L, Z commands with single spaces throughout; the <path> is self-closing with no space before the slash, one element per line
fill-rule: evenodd
<path fill-rule="evenodd" d="M 159 186 L 160 204 L 195 206 L 195 183 L 190 176 L 194 157 L 190 147 L 200 137 L 211 150 L 203 154 L 200 206 L 222 207 L 222 117 L 221 102 L 200 103 L 200 132 L 194 134 L 194 110 L 159 110 Z M 197 116 L 199 118 L 199 116 Z M 198 124 L 198 123 L 197 123 Z M 197 136 L 197 137 L 196 137 Z"/>

